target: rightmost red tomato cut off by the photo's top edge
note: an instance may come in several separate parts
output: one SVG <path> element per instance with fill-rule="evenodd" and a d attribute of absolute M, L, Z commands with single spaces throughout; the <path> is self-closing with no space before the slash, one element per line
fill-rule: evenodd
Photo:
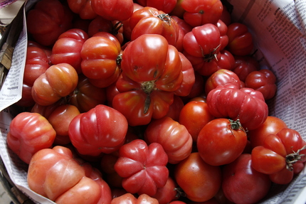
<path fill-rule="evenodd" d="M 184 20 L 193 27 L 217 23 L 223 11 L 220 0 L 184 0 L 181 7 L 185 10 Z"/>

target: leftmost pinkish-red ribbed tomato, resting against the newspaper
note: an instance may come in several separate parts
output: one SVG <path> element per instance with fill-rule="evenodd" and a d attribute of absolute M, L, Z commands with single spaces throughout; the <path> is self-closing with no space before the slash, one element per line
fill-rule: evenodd
<path fill-rule="evenodd" d="M 25 163 L 30 163 L 37 151 L 50 148 L 56 138 L 56 131 L 48 119 L 38 113 L 21 112 L 9 128 L 7 144 Z"/>

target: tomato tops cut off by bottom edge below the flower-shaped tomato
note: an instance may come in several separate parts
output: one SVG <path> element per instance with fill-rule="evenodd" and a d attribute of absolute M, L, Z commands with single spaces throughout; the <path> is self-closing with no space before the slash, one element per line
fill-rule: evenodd
<path fill-rule="evenodd" d="M 147 194 L 139 195 L 138 198 L 135 198 L 134 195 L 131 193 L 125 193 L 124 195 L 121 195 L 117 198 L 112 199 L 112 202 L 110 204 L 122 204 L 122 203 L 130 203 L 130 204 L 159 204 L 158 200 L 155 198 L 152 198 L 151 196 Z"/>

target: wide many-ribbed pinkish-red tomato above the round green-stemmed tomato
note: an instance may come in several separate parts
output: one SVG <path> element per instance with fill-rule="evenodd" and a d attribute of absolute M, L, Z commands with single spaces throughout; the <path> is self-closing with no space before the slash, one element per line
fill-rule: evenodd
<path fill-rule="evenodd" d="M 213 117 L 239 119 L 246 130 L 260 127 L 268 117 L 268 104 L 263 94 L 250 88 L 220 85 L 209 92 L 206 102 Z"/>

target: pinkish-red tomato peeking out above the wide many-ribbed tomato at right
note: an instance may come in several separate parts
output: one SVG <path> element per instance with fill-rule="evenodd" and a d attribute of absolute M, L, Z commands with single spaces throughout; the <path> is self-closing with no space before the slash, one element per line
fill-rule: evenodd
<path fill-rule="evenodd" d="M 205 92 L 206 95 L 211 92 L 211 90 L 218 87 L 218 85 L 227 85 L 227 84 L 233 84 L 237 87 L 241 86 L 240 79 L 236 73 L 234 73 L 231 70 L 217 70 L 215 73 L 213 73 L 209 78 L 206 80 L 205 83 Z"/>

